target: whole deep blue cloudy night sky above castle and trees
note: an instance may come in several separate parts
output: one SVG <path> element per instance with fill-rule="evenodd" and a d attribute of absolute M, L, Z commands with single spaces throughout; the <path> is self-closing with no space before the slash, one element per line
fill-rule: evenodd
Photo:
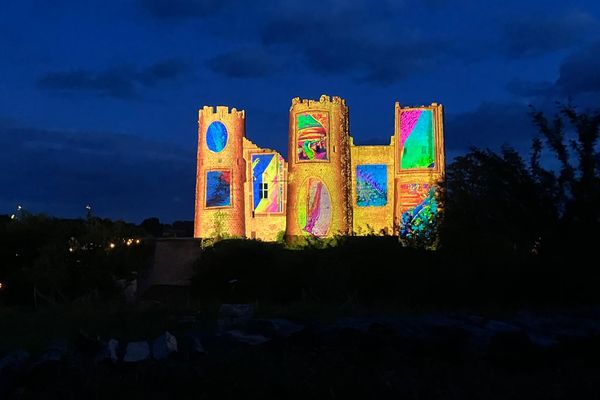
<path fill-rule="evenodd" d="M 199 108 L 287 157 L 291 99 L 321 94 L 358 144 L 439 102 L 450 158 L 527 156 L 529 104 L 600 106 L 600 2 L 4 0 L 0 214 L 191 220 Z"/>

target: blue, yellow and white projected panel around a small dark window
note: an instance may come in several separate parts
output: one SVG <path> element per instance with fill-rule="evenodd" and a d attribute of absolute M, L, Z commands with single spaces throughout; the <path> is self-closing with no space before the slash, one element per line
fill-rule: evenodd
<path fill-rule="evenodd" d="M 275 153 L 252 155 L 252 200 L 255 213 L 283 212 L 283 157 Z"/>

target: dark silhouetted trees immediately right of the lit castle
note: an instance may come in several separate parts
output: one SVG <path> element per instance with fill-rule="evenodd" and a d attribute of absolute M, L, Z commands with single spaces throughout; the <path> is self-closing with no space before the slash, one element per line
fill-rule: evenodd
<path fill-rule="evenodd" d="M 600 111 L 532 110 L 529 160 L 511 148 L 472 149 L 447 168 L 440 228 L 449 249 L 591 254 L 600 227 Z M 542 166 L 541 158 L 554 164 Z"/>

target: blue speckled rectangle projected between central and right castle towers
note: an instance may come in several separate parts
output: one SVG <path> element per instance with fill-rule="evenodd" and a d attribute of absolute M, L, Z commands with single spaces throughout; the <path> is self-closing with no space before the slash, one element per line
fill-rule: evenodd
<path fill-rule="evenodd" d="M 387 165 L 356 166 L 356 205 L 381 207 L 387 204 Z"/>

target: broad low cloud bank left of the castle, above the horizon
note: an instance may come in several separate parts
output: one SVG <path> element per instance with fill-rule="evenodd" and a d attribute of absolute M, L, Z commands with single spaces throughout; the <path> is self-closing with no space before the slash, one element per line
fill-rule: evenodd
<path fill-rule="evenodd" d="M 35 129 L 0 121 L 0 210 L 141 221 L 192 219 L 195 151 L 140 136 Z"/>

